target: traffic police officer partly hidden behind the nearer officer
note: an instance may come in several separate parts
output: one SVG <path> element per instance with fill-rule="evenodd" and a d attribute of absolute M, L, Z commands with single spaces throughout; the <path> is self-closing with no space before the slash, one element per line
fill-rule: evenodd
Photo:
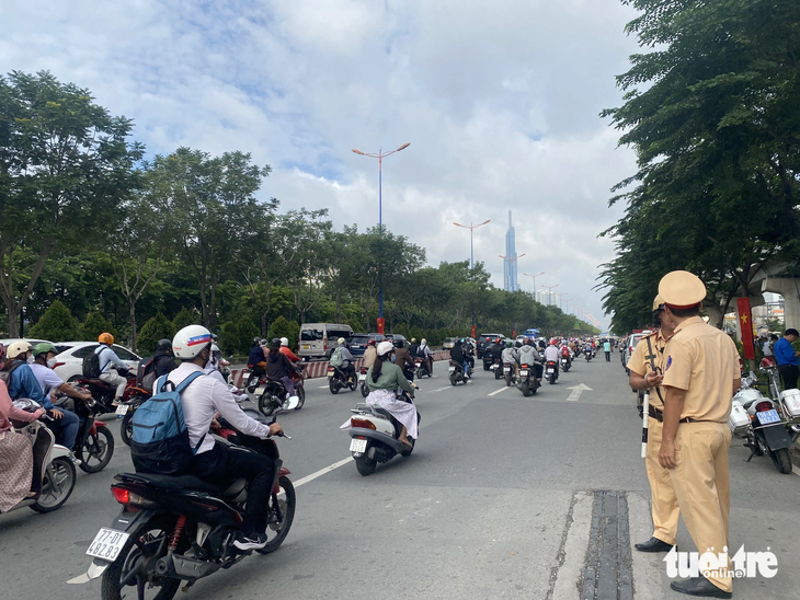
<path fill-rule="evenodd" d="M 664 390 L 660 386 L 663 379 L 663 359 L 666 341 L 672 327 L 661 315 L 664 301 L 656 296 L 653 301 L 653 322 L 661 324 L 655 332 L 643 336 L 628 361 L 630 386 L 635 390 L 652 390 L 650 393 L 648 423 L 648 452 L 644 466 L 650 481 L 650 496 L 653 514 L 653 536 L 633 547 L 641 552 L 668 552 L 675 545 L 677 520 L 681 514 L 672 485 L 670 472 L 659 464 L 661 430 L 664 414 Z"/>

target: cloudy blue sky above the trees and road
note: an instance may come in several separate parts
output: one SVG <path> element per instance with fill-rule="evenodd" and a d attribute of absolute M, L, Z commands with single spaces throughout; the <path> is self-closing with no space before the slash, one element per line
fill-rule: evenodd
<path fill-rule="evenodd" d="M 329 208 L 339 226 L 384 220 L 431 264 L 469 256 L 453 221 L 492 222 L 476 259 L 502 286 L 506 214 L 537 284 L 559 284 L 605 324 L 597 233 L 635 172 L 597 115 L 619 105 L 633 16 L 619 0 L 0 0 L 0 70 L 47 69 L 135 118 L 151 153 L 251 152 L 264 198 Z M 522 281 L 530 287 L 529 278 Z"/>

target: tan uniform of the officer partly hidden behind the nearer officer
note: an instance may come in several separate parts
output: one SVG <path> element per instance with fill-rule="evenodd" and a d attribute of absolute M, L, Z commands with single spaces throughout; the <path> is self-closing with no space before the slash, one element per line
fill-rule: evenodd
<path fill-rule="evenodd" d="M 650 345 L 648 345 L 648 339 Z M 661 331 L 643 336 L 637 345 L 633 354 L 628 361 L 628 369 L 632 372 L 647 377 L 651 372 L 650 364 L 650 346 L 655 355 L 653 362 L 659 372 L 663 372 L 664 348 L 666 339 Z M 661 396 L 664 390 L 659 390 Z M 664 403 L 662 402 L 655 389 L 650 392 L 650 414 L 648 420 L 648 453 L 644 458 L 644 466 L 648 471 L 648 480 L 650 481 L 650 495 L 653 514 L 653 538 L 675 545 L 675 535 L 677 535 L 677 520 L 681 515 L 678 509 L 675 488 L 672 485 L 670 472 L 659 464 L 659 450 L 661 450 L 661 431 L 663 429 L 662 414 L 664 412 Z"/>

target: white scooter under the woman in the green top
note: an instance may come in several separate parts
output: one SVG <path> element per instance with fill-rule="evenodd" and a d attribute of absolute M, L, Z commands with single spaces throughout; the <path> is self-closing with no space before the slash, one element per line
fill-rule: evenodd
<path fill-rule="evenodd" d="M 410 404 L 413 401 L 403 391 L 398 399 Z M 377 404 L 356 404 L 351 409 L 354 415 L 350 417 L 350 451 L 355 459 L 355 468 L 363 476 L 372 475 L 378 463 L 388 462 L 396 455 L 411 455 L 415 440 L 408 436 L 411 448 L 404 446 L 400 440 L 402 425 L 391 416 L 389 411 Z M 416 423 L 420 423 L 420 412 L 416 412 Z"/>

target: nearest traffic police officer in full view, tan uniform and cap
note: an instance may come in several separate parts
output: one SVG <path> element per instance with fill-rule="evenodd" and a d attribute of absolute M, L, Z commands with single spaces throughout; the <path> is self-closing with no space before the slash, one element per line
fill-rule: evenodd
<path fill-rule="evenodd" d="M 670 471 L 686 529 L 702 554 L 728 551 L 730 486 L 727 422 L 739 389 L 739 354 L 733 341 L 700 319 L 706 286 L 686 270 L 659 284 L 662 320 L 674 327 L 664 354 L 664 423 L 659 462 Z M 722 572 L 673 581 L 690 596 L 731 598 L 730 559 Z"/>

